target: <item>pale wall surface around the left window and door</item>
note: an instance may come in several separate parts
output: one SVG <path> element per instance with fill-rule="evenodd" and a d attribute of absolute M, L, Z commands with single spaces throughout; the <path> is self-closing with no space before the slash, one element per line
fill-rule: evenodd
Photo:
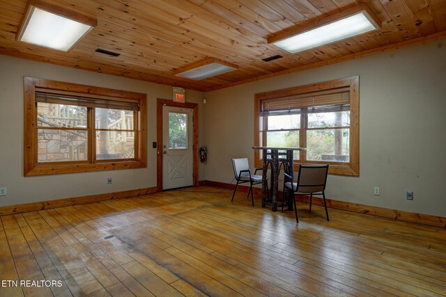
<path fill-rule="evenodd" d="M 76 70 L 0 55 L 0 206 L 126 191 L 156 186 L 156 99 L 171 99 L 172 87 L 133 79 Z M 23 176 L 23 77 L 52 79 L 89 86 L 146 93 L 148 98 L 148 166 L 141 169 Z M 203 93 L 187 90 L 187 102 L 199 103 L 199 145 L 203 145 Z M 199 180 L 205 166 L 199 165 Z M 112 177 L 113 184 L 107 184 Z"/>

